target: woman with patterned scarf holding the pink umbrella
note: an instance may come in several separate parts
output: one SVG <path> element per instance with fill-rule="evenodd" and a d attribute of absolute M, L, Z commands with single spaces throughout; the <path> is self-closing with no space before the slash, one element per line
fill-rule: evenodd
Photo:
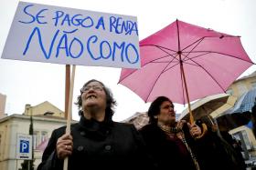
<path fill-rule="evenodd" d="M 201 129 L 182 120 L 176 122 L 172 101 L 159 96 L 150 105 L 149 124 L 139 131 L 158 169 L 199 170 L 196 137 Z"/>

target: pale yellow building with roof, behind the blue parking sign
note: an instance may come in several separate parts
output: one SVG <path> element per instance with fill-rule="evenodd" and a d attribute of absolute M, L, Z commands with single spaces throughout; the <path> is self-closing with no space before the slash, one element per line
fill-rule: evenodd
<path fill-rule="evenodd" d="M 44 102 L 40 105 L 26 105 L 23 115 L 9 115 L 0 119 L 0 169 L 18 170 L 24 160 L 16 159 L 16 136 L 17 134 L 29 133 L 30 115 L 33 118 L 33 150 L 34 167 L 41 161 L 42 148 L 38 146 L 48 142 L 52 131 L 66 125 L 64 113 L 59 108 Z M 72 123 L 75 123 L 72 122 Z"/>

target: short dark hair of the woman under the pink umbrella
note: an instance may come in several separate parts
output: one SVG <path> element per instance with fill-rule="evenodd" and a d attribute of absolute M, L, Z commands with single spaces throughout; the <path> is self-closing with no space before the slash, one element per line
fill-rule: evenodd
<path fill-rule="evenodd" d="M 157 119 L 154 116 L 160 114 L 160 106 L 166 101 L 173 103 L 168 97 L 165 96 L 158 96 L 151 103 L 147 111 L 147 115 L 149 116 L 149 124 L 157 124 Z"/>

